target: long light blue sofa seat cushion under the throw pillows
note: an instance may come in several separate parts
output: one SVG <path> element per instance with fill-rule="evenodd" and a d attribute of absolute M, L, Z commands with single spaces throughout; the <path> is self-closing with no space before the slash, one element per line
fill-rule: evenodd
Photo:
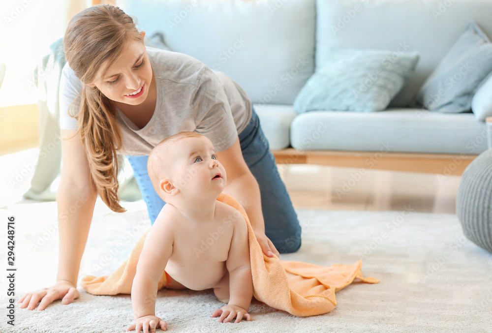
<path fill-rule="evenodd" d="M 472 113 L 312 111 L 294 119 L 290 138 L 299 150 L 479 154 L 487 150 L 485 126 Z"/>

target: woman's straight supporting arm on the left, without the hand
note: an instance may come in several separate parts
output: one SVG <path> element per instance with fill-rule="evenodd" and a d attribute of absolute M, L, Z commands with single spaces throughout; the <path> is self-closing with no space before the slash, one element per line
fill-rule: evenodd
<path fill-rule="evenodd" d="M 62 139 L 75 133 L 76 130 L 61 130 Z M 60 236 L 57 282 L 68 281 L 75 287 L 97 198 L 90 177 L 80 136 L 62 140 L 62 174 L 57 192 Z"/>

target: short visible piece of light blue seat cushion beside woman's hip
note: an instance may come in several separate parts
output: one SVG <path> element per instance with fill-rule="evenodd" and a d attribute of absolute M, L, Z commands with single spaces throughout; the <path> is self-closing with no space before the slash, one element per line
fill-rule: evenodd
<path fill-rule="evenodd" d="M 253 108 L 270 149 L 284 149 L 290 145 L 290 124 L 297 113 L 292 105 L 254 104 Z"/>

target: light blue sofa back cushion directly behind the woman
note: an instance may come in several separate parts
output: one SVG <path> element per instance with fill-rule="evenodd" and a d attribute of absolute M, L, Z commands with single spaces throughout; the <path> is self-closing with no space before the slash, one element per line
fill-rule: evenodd
<path fill-rule="evenodd" d="M 253 103 L 292 104 L 314 72 L 315 0 L 118 0 L 137 27 L 239 83 Z"/>

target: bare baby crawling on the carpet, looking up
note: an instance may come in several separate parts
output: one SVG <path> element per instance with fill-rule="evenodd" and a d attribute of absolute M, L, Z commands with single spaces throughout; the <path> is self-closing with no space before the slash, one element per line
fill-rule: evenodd
<path fill-rule="evenodd" d="M 166 330 L 166 322 L 155 316 L 164 269 L 168 289 L 214 288 L 218 300 L 227 303 L 212 314 L 220 316 L 219 322 L 250 321 L 253 282 L 246 221 L 235 208 L 216 200 L 225 188 L 226 174 L 212 142 L 194 132 L 170 136 L 152 150 L 147 169 L 166 205 L 138 260 L 131 288 L 134 322 L 126 331 Z"/>

